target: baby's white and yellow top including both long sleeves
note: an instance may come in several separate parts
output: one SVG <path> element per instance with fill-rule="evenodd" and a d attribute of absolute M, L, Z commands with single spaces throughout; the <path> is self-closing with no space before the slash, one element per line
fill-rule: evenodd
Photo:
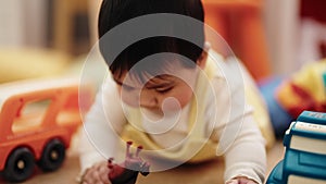
<path fill-rule="evenodd" d="M 243 83 L 229 84 L 234 81 L 226 76 L 233 76 L 236 71 L 221 70 L 221 66 L 233 65 L 237 63 L 236 59 L 223 60 L 212 51 L 209 56 L 197 81 L 196 99 L 183 108 L 172 128 L 162 134 L 148 133 L 150 130 L 145 125 L 148 116 L 143 115 L 151 115 L 150 112 L 140 113 L 139 109 L 127 106 L 122 108 L 115 83 L 108 77 L 85 122 L 87 132 L 80 147 L 82 168 L 116 157 L 120 137 L 124 137 L 142 145 L 145 150 L 160 150 L 158 157 L 172 160 L 189 158 L 190 162 L 200 162 L 223 154 L 225 181 L 241 175 L 263 183 L 265 144 L 274 142 L 267 110 L 243 66 L 240 65 L 239 70 Z M 244 102 L 233 100 L 243 93 Z M 89 146 L 85 146 L 86 142 Z"/>

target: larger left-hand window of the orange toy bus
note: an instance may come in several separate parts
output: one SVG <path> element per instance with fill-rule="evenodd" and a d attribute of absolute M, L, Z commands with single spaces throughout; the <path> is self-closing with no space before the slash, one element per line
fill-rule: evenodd
<path fill-rule="evenodd" d="M 12 132 L 28 131 L 39 126 L 42 123 L 50 103 L 50 99 L 24 103 L 14 118 Z"/>

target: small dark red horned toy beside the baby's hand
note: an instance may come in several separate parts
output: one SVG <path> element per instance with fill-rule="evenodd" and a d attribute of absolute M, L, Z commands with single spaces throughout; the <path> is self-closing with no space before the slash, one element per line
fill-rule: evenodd
<path fill-rule="evenodd" d="M 142 147 L 138 146 L 136 155 L 130 154 L 133 142 L 127 142 L 126 159 L 121 164 L 114 164 L 113 158 L 108 161 L 110 172 L 108 174 L 112 184 L 135 184 L 138 173 L 142 175 L 149 174 L 150 164 L 139 157 Z"/>

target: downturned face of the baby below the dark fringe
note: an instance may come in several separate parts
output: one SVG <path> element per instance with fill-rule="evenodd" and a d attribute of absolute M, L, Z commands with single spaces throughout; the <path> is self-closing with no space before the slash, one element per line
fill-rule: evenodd
<path fill-rule="evenodd" d="M 125 103 L 162 114 L 163 109 L 177 111 L 190 102 L 197 75 L 198 69 L 176 66 L 166 74 L 148 76 L 145 83 L 127 72 L 113 78 Z"/>

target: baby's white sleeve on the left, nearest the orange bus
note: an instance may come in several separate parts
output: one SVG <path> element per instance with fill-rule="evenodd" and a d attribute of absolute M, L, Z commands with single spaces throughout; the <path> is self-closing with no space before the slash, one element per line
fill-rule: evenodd
<path fill-rule="evenodd" d="M 115 156 L 117 133 L 125 123 L 114 82 L 108 78 L 87 113 L 80 137 L 82 173 L 92 164 Z"/>

